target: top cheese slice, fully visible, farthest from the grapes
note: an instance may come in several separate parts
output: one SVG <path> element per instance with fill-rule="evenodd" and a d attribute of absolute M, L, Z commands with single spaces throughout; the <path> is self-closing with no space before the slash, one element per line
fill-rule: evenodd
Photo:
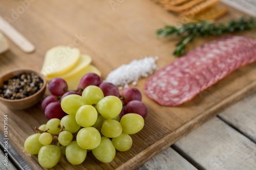
<path fill-rule="evenodd" d="M 41 73 L 46 77 L 58 77 L 74 69 L 80 57 L 78 48 L 59 45 L 46 52 Z"/>

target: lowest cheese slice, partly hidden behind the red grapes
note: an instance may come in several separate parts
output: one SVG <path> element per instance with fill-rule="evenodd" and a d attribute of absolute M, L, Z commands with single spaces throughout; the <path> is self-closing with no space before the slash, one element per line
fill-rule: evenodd
<path fill-rule="evenodd" d="M 68 83 L 68 89 L 69 90 L 77 90 L 80 79 L 84 75 L 88 74 L 89 72 L 94 72 L 95 74 L 101 76 L 100 71 L 98 70 L 98 68 L 90 64 L 86 68 L 84 68 L 82 71 L 80 71 L 77 74 L 65 79 Z"/>

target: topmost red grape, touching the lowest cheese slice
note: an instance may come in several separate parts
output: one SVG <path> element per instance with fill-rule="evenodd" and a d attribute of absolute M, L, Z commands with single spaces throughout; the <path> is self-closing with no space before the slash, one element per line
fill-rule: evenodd
<path fill-rule="evenodd" d="M 99 75 L 93 72 L 90 72 L 81 78 L 77 90 L 79 91 L 80 89 L 84 89 L 90 85 L 98 86 L 100 83 L 101 83 L 101 79 Z"/>

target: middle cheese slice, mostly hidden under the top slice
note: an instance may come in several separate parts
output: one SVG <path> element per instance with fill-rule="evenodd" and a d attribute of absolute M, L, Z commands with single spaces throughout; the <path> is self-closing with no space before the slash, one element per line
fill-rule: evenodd
<path fill-rule="evenodd" d="M 81 72 L 84 69 L 86 69 L 86 67 L 88 65 L 90 65 L 91 62 L 92 62 L 92 58 L 89 55 L 81 55 L 79 57 L 79 59 L 78 59 L 77 64 L 74 66 L 74 68 L 72 70 L 70 70 L 67 74 L 60 75 L 58 77 L 61 77 L 63 79 L 70 79 L 74 75 L 77 75 L 77 74 L 79 74 L 79 72 Z M 49 75 L 46 76 L 46 78 L 49 79 L 49 80 L 54 78 L 54 77 L 53 76 L 49 76 Z"/>

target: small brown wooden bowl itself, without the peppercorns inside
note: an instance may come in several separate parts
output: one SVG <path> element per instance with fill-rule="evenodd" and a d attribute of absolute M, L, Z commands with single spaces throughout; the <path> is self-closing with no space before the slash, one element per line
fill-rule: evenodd
<path fill-rule="evenodd" d="M 39 91 L 23 99 L 9 100 L 9 99 L 4 99 L 0 97 L 0 101 L 4 105 L 6 105 L 9 109 L 13 109 L 13 110 L 27 109 L 32 107 L 36 103 L 38 103 L 42 99 L 42 96 L 45 94 L 47 81 L 46 81 L 46 78 L 42 76 L 38 70 L 30 69 L 30 68 L 13 69 L 0 75 L 0 87 L 1 87 L 3 83 L 8 79 L 11 79 L 20 74 L 31 74 L 31 73 L 34 73 L 37 76 L 39 76 L 44 82 L 44 85 L 41 87 Z"/>

